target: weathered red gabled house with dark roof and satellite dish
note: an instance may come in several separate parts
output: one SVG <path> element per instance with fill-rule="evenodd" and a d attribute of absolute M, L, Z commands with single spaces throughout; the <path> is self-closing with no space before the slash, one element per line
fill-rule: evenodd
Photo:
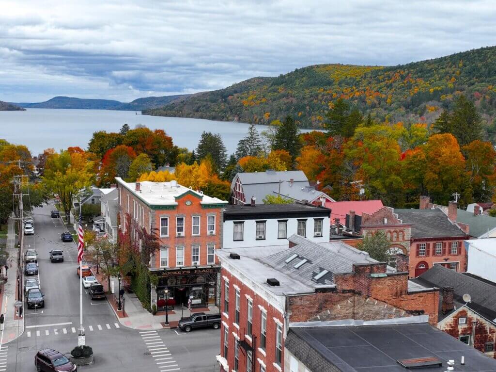
<path fill-rule="evenodd" d="M 439 329 L 488 357 L 496 358 L 495 283 L 439 265 L 414 281 L 419 285 L 441 289 L 437 323 Z"/>

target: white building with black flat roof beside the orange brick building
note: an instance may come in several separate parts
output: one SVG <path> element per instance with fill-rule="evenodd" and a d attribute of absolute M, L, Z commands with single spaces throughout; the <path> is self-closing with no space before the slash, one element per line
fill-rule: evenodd
<path fill-rule="evenodd" d="M 224 210 L 223 248 L 287 245 L 293 234 L 329 241 L 331 211 L 311 204 L 232 205 Z"/>

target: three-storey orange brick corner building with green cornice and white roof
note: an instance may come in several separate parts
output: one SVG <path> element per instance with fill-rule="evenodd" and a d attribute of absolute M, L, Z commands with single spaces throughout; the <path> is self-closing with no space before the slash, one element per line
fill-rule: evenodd
<path fill-rule="evenodd" d="M 193 307 L 215 303 L 220 270 L 215 250 L 222 247 L 222 210 L 227 202 L 176 181 L 116 181 L 121 228 L 134 235 L 136 249 L 142 248 L 139 228 L 160 238 L 160 251 L 149 264 L 159 278 L 150 290 L 151 303 L 158 309 L 165 306 L 166 289 L 176 303 L 187 304 L 189 298 Z M 125 231 L 126 226 L 132 230 Z"/>

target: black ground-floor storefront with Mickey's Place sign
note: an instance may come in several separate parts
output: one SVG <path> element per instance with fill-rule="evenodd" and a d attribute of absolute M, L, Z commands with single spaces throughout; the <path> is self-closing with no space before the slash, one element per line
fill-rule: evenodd
<path fill-rule="evenodd" d="M 191 308 L 215 304 L 218 273 L 219 268 L 216 267 L 155 272 L 159 277 L 157 310 L 165 309 L 167 298 L 169 298 L 169 305 L 176 307 L 181 307 L 183 304 L 187 307 L 189 299 L 191 299 Z"/>

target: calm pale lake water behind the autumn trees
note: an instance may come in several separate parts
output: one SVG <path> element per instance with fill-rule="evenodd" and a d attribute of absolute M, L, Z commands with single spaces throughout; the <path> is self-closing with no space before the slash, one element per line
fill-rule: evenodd
<path fill-rule="evenodd" d="M 0 138 L 26 145 L 36 155 L 48 148 L 79 146 L 86 149 L 93 132 L 119 132 L 125 123 L 131 128 L 143 124 L 150 129 L 163 129 L 175 145 L 190 150 L 198 145 L 201 132 L 220 133 L 229 154 L 248 132 L 245 123 L 136 115 L 134 111 L 27 109 L 0 111 Z M 267 126 L 259 125 L 257 129 L 261 132 Z"/>

